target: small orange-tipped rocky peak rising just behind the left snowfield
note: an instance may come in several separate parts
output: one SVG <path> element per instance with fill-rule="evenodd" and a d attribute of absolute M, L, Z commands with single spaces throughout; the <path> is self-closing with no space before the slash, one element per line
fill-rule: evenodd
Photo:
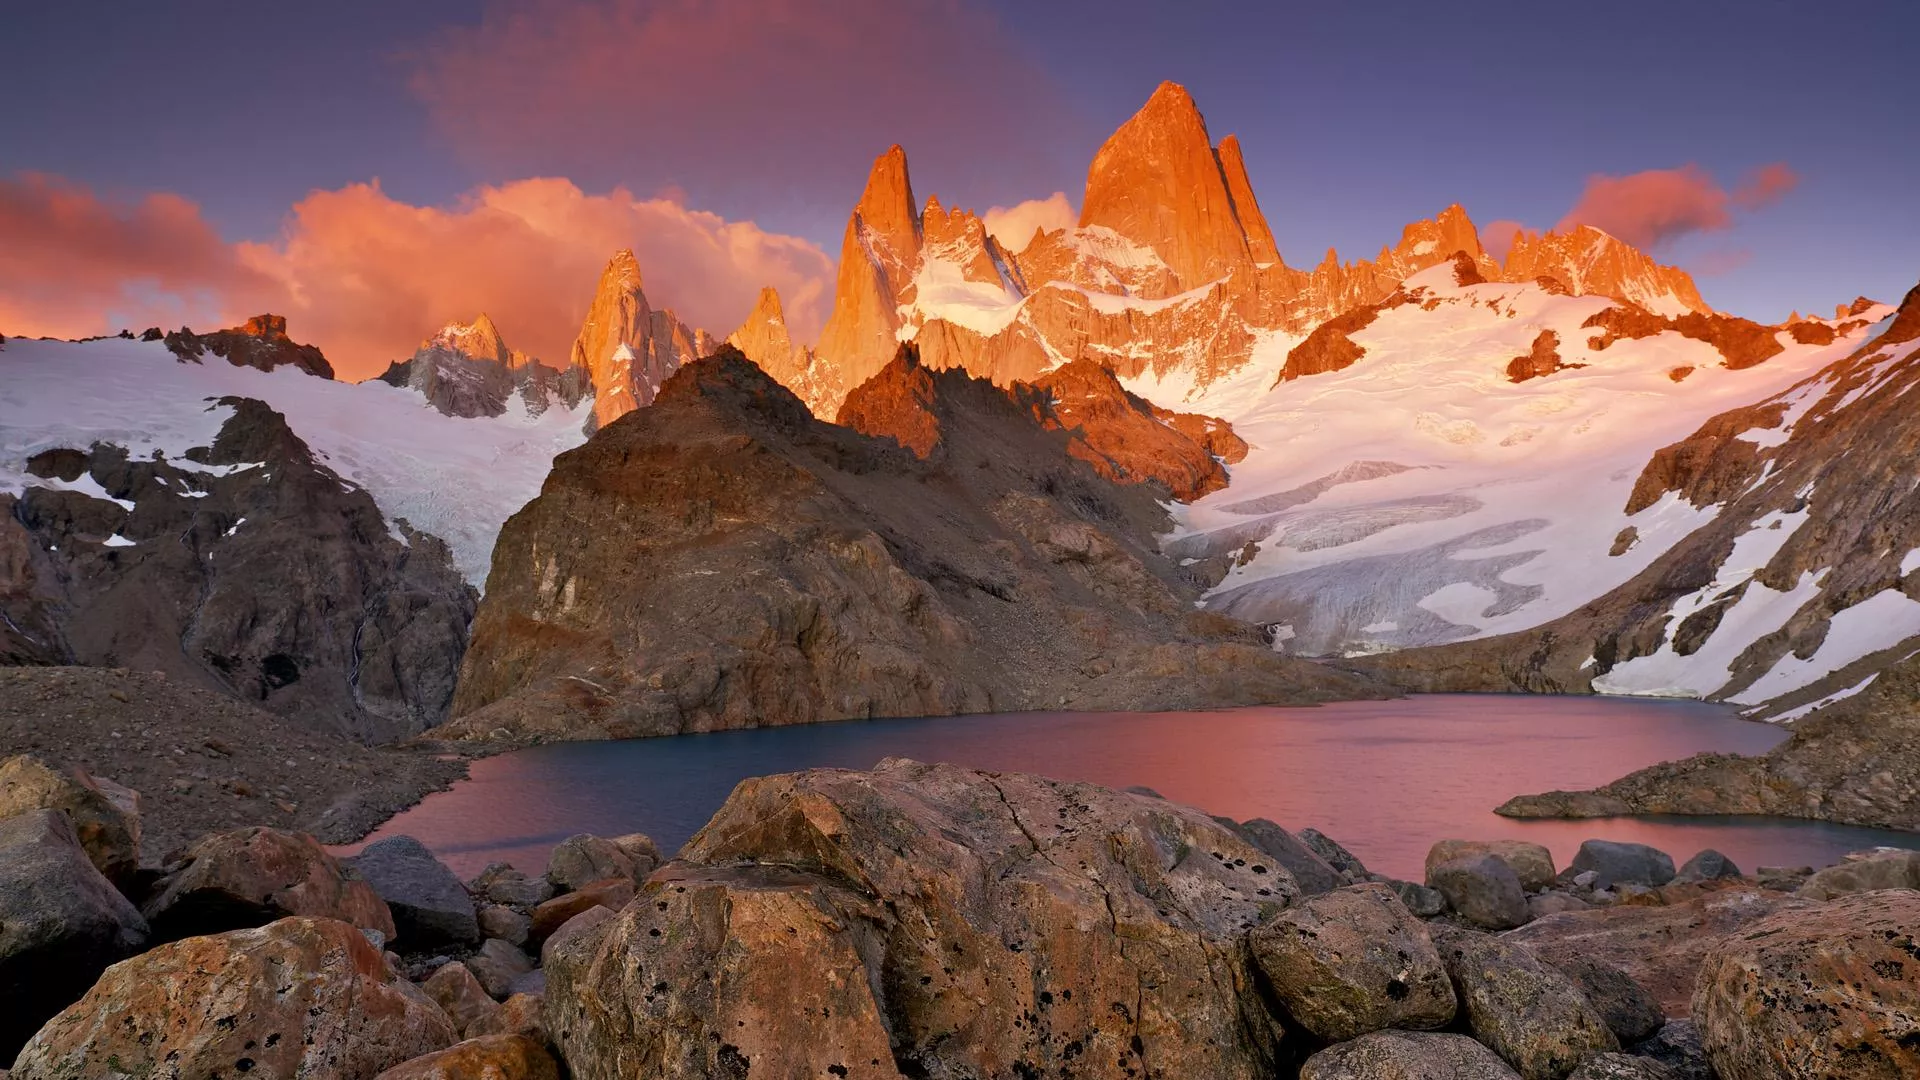
<path fill-rule="evenodd" d="M 555 404 L 574 409 L 593 392 L 586 369 L 557 371 L 507 348 L 484 311 L 472 323 L 442 327 L 411 357 L 388 365 L 380 380 L 417 390 L 449 417 L 497 417 L 513 400 L 538 417 Z"/>

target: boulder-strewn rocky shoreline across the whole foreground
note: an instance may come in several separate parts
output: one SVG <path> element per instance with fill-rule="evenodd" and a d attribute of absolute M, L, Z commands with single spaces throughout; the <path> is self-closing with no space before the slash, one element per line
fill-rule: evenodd
<path fill-rule="evenodd" d="M 0 763 L 6 1080 L 1300 1076 L 1920 1068 L 1920 853 L 1743 874 L 1442 840 L 1423 882 L 1146 790 L 883 761 L 743 782 L 672 859 L 461 882 Z"/>

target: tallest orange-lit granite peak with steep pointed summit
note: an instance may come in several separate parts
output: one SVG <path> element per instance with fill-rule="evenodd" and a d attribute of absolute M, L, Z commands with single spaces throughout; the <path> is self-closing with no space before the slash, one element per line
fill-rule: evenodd
<path fill-rule="evenodd" d="M 1215 154 L 1177 83 L 1162 83 L 1094 154 L 1079 223 L 1152 248 L 1183 290 L 1269 261 L 1273 250 L 1238 142 Z"/>

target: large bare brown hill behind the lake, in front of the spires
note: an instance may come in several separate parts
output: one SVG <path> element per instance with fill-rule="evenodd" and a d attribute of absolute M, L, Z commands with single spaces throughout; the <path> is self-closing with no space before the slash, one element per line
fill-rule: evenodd
<path fill-rule="evenodd" d="M 501 532 L 453 738 L 1363 696 L 1196 613 L 1158 484 L 904 354 L 849 423 L 733 350 L 555 461 Z M 1202 452 L 1204 454 L 1204 452 Z"/>

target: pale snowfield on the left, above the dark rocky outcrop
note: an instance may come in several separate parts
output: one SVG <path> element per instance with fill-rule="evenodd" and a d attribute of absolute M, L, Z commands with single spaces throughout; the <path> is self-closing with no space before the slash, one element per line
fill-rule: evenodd
<path fill-rule="evenodd" d="M 591 398 L 530 417 L 518 396 L 499 417 L 447 417 L 386 382 L 334 382 L 280 367 L 180 363 L 161 342 L 10 338 L 0 350 L 0 492 L 48 486 L 25 461 L 94 442 L 179 459 L 207 446 L 230 409 L 213 398 L 267 402 L 336 473 L 363 486 L 388 519 L 444 538 L 461 573 L 484 584 L 493 538 L 540 492 L 553 455 L 582 442 Z"/>

